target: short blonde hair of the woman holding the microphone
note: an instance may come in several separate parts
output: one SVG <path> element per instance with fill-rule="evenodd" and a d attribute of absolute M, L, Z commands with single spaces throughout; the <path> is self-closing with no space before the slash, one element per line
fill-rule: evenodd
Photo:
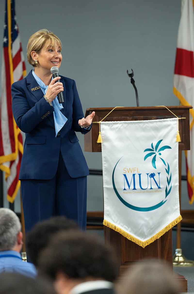
<path fill-rule="evenodd" d="M 27 59 L 29 64 L 32 66 L 36 66 L 35 61 L 31 57 L 31 52 L 36 51 L 40 52 L 40 50 L 44 47 L 44 45 L 48 42 L 48 46 L 56 46 L 58 43 L 59 46 L 62 48 L 61 40 L 53 34 L 51 31 L 47 29 L 42 29 L 34 33 L 30 36 L 27 45 Z"/>

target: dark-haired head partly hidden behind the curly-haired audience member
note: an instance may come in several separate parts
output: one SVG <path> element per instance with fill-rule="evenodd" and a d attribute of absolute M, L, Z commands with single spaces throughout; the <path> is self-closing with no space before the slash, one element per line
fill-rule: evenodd
<path fill-rule="evenodd" d="M 59 231 L 76 230 L 77 224 L 64 216 L 56 216 L 37 223 L 26 236 L 26 251 L 30 261 L 37 267 L 39 254 Z"/>

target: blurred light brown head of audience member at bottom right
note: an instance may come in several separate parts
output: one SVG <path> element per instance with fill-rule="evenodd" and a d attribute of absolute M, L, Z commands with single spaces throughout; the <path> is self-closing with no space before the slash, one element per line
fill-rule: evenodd
<path fill-rule="evenodd" d="M 173 270 L 162 260 L 142 260 L 130 267 L 118 285 L 121 294 L 177 294 Z"/>

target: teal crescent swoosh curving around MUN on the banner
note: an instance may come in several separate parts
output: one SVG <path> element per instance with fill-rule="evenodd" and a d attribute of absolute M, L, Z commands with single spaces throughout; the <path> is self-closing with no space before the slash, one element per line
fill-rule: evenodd
<path fill-rule="evenodd" d="M 122 157 L 121 157 L 122 158 Z M 121 158 L 117 161 L 117 163 L 121 160 Z M 115 168 L 117 166 L 117 163 L 115 165 Z M 114 173 L 115 173 L 115 168 L 112 172 L 112 186 L 113 186 L 113 189 L 117 195 L 117 197 L 119 198 L 119 200 L 125 205 L 127 206 L 128 208 L 131 208 L 133 210 L 136 210 L 136 211 L 152 211 L 152 210 L 155 210 L 157 208 L 159 208 L 160 206 L 162 206 L 167 200 L 165 201 L 161 201 L 160 203 L 154 205 L 154 206 L 150 206 L 150 207 L 138 207 L 138 206 L 134 206 L 134 205 L 131 205 L 130 203 L 128 203 L 127 201 L 125 201 L 118 193 L 116 187 L 115 187 L 115 181 L 114 181 Z"/>

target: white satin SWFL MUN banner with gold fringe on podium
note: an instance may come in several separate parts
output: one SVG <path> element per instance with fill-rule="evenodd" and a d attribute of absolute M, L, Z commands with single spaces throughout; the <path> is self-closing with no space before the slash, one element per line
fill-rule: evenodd
<path fill-rule="evenodd" d="M 142 246 L 182 218 L 177 118 L 101 122 L 104 225 Z"/>

